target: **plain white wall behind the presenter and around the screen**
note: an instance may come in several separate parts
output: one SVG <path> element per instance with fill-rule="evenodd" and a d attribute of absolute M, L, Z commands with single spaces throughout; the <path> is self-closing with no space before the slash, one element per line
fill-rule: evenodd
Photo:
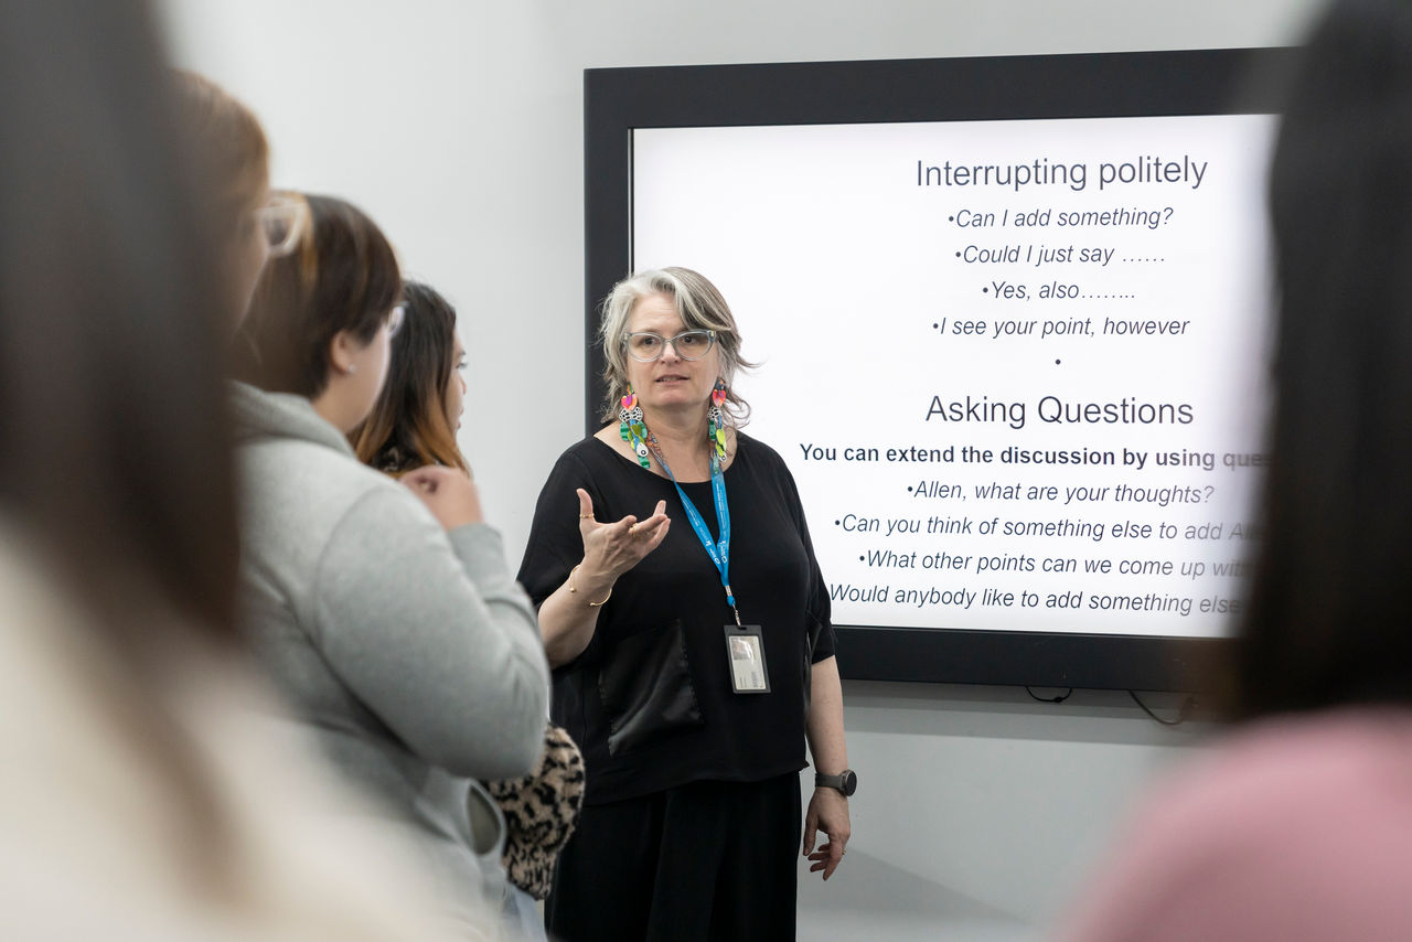
<path fill-rule="evenodd" d="M 462 446 L 518 559 L 582 434 L 582 71 L 1296 42 L 1315 0 L 162 0 L 174 56 L 260 113 L 277 185 L 363 206 L 459 306 Z M 801 938 L 1034 938 L 1200 729 L 1120 693 L 847 684 L 861 787 Z M 1171 708 L 1172 702 L 1158 699 Z M 1171 712 L 1171 709 L 1169 709 Z"/>

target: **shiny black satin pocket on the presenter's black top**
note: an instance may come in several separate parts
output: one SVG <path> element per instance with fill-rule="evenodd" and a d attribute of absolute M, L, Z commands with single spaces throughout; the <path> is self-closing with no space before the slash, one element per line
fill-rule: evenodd
<path fill-rule="evenodd" d="M 609 754 L 702 726 L 681 620 L 618 641 L 599 671 Z"/>

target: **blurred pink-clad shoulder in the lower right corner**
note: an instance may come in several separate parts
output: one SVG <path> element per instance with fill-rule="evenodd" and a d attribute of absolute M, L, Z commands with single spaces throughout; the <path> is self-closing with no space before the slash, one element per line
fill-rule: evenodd
<path fill-rule="evenodd" d="M 1409 782 L 1412 710 L 1238 729 L 1145 797 L 1060 938 L 1381 938 L 1339 926 L 1412 921 Z"/>

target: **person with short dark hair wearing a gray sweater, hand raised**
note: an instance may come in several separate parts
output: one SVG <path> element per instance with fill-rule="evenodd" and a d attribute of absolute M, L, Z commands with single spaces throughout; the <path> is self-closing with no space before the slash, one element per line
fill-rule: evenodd
<path fill-rule="evenodd" d="M 404 316 L 398 266 L 349 203 L 308 208 L 236 343 L 241 614 L 336 765 L 419 837 L 449 911 L 490 931 L 503 823 L 472 780 L 538 757 L 544 648 L 470 477 L 398 483 L 353 455 Z"/>

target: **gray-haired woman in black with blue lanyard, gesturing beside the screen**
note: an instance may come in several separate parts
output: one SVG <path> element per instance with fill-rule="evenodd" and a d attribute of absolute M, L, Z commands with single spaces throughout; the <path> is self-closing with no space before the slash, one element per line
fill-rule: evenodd
<path fill-rule="evenodd" d="M 805 739 L 826 880 L 856 781 L 799 494 L 736 428 L 748 364 L 710 281 L 633 275 L 600 336 L 610 424 L 559 458 L 520 569 L 587 765 L 545 918 L 566 942 L 792 939 Z"/>

